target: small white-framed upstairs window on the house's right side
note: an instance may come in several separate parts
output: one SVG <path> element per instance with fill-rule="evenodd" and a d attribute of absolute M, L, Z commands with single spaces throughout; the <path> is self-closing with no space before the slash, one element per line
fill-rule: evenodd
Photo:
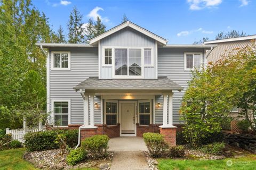
<path fill-rule="evenodd" d="M 185 70 L 202 69 L 203 55 L 202 53 L 185 53 Z"/>

